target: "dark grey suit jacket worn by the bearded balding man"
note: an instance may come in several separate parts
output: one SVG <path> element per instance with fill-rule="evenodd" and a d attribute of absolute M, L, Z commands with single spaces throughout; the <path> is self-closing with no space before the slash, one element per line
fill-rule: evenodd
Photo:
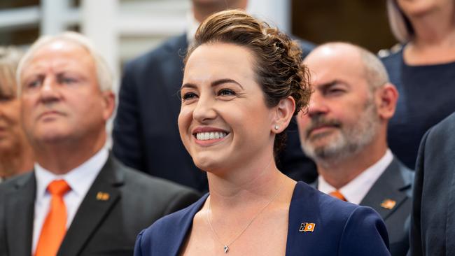
<path fill-rule="evenodd" d="M 360 201 L 360 206 L 370 206 L 381 215 L 386 223 L 390 251 L 393 256 L 404 256 L 409 250 L 409 219 L 412 205 L 412 181 L 414 171 L 407 169 L 396 157 L 393 157 L 384 173 Z M 314 183 L 317 187 L 317 183 Z M 388 209 L 383 202 L 395 201 L 395 206 Z"/>

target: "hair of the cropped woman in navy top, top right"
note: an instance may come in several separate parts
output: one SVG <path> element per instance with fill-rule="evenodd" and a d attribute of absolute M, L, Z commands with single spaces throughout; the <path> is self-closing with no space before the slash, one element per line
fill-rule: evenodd
<path fill-rule="evenodd" d="M 411 41 L 414 37 L 414 28 L 405 13 L 400 10 L 396 0 L 387 0 L 387 15 L 393 36 L 400 43 Z"/>

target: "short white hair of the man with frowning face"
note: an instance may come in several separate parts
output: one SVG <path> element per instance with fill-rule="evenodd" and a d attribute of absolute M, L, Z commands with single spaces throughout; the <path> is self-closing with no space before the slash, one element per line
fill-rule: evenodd
<path fill-rule="evenodd" d="M 22 71 L 28 64 L 31 57 L 33 57 L 36 51 L 42 48 L 44 45 L 48 45 L 49 43 L 52 43 L 54 41 L 69 41 L 71 43 L 76 43 L 77 45 L 80 45 L 82 48 L 85 48 L 85 50 L 87 50 L 89 55 L 92 56 L 94 60 L 95 67 L 97 69 L 97 80 L 99 89 L 102 91 L 112 90 L 113 74 L 111 72 L 111 69 L 109 69 L 109 66 L 104 57 L 102 57 L 102 55 L 94 48 L 93 43 L 86 36 L 83 36 L 82 34 L 73 31 L 66 31 L 56 36 L 41 36 L 40 38 L 38 38 L 38 40 L 35 41 L 35 43 L 33 43 L 33 45 L 31 45 L 29 50 L 25 53 L 24 57 L 20 59 L 18 65 L 18 73 L 16 74 L 16 80 L 18 83 L 18 94 L 20 94 L 21 90 L 20 77 Z"/>

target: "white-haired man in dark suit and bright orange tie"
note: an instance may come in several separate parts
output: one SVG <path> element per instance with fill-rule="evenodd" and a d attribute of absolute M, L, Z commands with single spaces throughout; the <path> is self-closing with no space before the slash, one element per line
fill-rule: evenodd
<path fill-rule="evenodd" d="M 1 256 L 132 255 L 141 229 L 199 198 L 109 154 L 112 77 L 84 36 L 38 39 L 18 85 L 36 163 L 0 185 Z"/>

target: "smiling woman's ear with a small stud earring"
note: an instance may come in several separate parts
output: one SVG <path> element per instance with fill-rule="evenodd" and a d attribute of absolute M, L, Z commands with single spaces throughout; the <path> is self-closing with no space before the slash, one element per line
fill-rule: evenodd
<path fill-rule="evenodd" d="M 281 131 L 286 129 L 286 127 L 288 127 L 290 120 L 293 118 L 295 110 L 294 98 L 288 96 L 285 99 L 281 99 L 279 104 L 274 108 L 274 120 L 270 129 L 274 134 L 279 134 Z"/>

